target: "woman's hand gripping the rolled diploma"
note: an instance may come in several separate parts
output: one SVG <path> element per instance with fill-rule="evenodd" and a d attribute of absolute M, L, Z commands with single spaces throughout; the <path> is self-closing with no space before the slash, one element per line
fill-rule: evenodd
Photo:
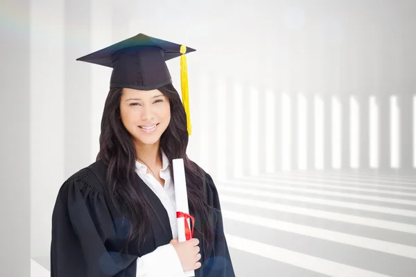
<path fill-rule="evenodd" d="M 178 240 L 175 239 L 171 240 L 169 244 L 172 244 L 173 247 L 175 247 L 184 271 L 195 270 L 201 267 L 201 263 L 198 262 L 201 258 L 201 254 L 199 253 L 200 247 L 198 247 L 199 240 L 197 238 L 191 238 L 191 240 L 184 242 L 178 242 Z"/>

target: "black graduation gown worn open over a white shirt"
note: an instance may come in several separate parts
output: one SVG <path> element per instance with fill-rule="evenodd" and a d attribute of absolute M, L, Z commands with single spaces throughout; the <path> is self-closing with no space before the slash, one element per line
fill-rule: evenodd
<path fill-rule="evenodd" d="M 151 215 L 152 231 L 146 242 L 140 247 L 130 247 L 128 254 L 123 251 L 123 238 L 127 231 L 120 227 L 121 214 L 110 201 L 105 187 L 106 174 L 105 164 L 96 161 L 62 184 L 52 215 L 51 277 L 135 277 L 137 258 L 172 240 L 166 209 L 157 195 L 135 175 L 135 184 L 143 188 L 161 222 L 157 216 Z M 220 208 L 214 181 L 206 175 L 207 202 Z M 199 217 L 193 216 L 195 225 L 200 226 Z M 196 232 L 193 237 L 200 241 L 198 246 L 202 253 L 202 238 Z M 220 213 L 216 215 L 213 247 L 209 259 L 196 269 L 196 277 L 235 276 Z"/>

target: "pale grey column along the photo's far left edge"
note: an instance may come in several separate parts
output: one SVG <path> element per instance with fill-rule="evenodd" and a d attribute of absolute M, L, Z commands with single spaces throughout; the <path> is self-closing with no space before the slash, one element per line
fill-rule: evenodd
<path fill-rule="evenodd" d="M 31 274 L 31 126 L 30 16 L 31 1 L 2 1 L 2 74 L 0 93 L 0 174 L 2 257 L 0 276 Z M 19 27 L 19 28 L 17 28 Z"/>

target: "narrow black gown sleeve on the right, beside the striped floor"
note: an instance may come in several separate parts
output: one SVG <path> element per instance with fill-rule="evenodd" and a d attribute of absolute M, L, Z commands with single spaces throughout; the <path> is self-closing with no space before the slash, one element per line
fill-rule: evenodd
<path fill-rule="evenodd" d="M 220 199 L 213 179 L 207 173 L 207 200 L 216 208 L 215 240 L 211 255 L 204 268 L 204 277 L 234 277 L 234 268 L 229 256 L 227 240 L 224 233 L 223 215 Z"/>

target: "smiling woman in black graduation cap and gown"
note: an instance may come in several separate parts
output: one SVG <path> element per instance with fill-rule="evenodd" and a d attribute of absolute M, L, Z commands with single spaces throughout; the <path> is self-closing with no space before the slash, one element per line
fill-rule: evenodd
<path fill-rule="evenodd" d="M 112 67 L 112 76 L 96 162 L 58 193 L 51 277 L 234 276 L 214 181 L 186 154 L 187 95 L 182 105 L 166 66 L 181 56 L 186 70 L 184 54 L 139 34 L 78 59 Z M 173 159 L 184 161 L 195 220 L 185 242 L 177 241 Z"/>

